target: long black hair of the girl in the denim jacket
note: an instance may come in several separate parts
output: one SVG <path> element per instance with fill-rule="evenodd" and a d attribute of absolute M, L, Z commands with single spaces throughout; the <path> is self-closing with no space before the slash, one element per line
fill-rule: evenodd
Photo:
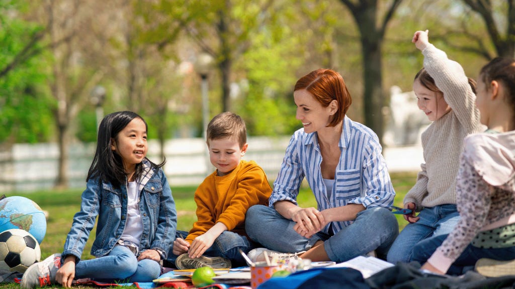
<path fill-rule="evenodd" d="M 95 155 L 91 167 L 86 177 L 86 182 L 90 178 L 98 177 L 104 183 L 111 183 L 115 187 L 119 187 L 127 182 L 127 172 L 124 169 L 122 157 L 111 150 L 111 139 L 115 139 L 120 131 L 122 131 L 127 124 L 134 118 L 139 118 L 145 123 L 145 129 L 148 131 L 147 122 L 138 114 L 123 111 L 108 114 L 98 128 L 98 139 L 95 149 Z M 150 162 L 152 168 L 161 168 L 166 160 L 163 160 L 161 164 L 156 165 L 151 162 L 148 158 L 146 160 Z M 139 179 L 143 173 L 142 163 L 136 165 L 134 172 L 135 179 Z"/>

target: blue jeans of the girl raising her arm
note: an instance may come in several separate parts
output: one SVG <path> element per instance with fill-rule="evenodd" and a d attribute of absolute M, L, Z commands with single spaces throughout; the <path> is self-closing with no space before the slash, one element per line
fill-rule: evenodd
<path fill-rule="evenodd" d="M 416 223 L 407 224 L 397 240 L 393 242 L 388 252 L 388 262 L 397 264 L 413 261 L 415 245 L 422 240 L 450 233 L 459 221 L 459 213 L 454 204 L 425 207 L 418 216 L 420 219 Z M 434 252 L 430 248 L 419 248 L 419 250 L 427 250 L 430 256 Z"/>

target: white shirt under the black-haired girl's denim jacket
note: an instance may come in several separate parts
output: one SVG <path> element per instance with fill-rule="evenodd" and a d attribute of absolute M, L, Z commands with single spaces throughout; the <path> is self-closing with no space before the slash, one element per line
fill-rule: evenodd
<path fill-rule="evenodd" d="M 123 241 L 130 241 L 136 246 L 140 245 L 140 238 L 143 232 L 143 222 L 141 221 L 140 208 L 138 206 L 140 198 L 138 188 L 139 184 L 137 182 L 129 182 L 127 186 L 127 220 L 120 238 Z"/>

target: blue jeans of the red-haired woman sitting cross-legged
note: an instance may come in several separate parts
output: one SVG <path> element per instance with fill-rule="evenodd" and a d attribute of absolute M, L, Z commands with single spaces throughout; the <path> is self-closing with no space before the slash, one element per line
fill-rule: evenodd
<path fill-rule="evenodd" d="M 300 252 L 321 240 L 329 259 L 335 262 L 344 262 L 373 250 L 376 250 L 377 257 L 386 258 L 388 249 L 399 234 L 397 219 L 390 210 L 381 207 L 359 212 L 351 225 L 333 235 L 318 232 L 307 239 L 293 229 L 295 224 L 275 209 L 263 205 L 250 207 L 245 218 L 249 237 L 268 249 Z"/>

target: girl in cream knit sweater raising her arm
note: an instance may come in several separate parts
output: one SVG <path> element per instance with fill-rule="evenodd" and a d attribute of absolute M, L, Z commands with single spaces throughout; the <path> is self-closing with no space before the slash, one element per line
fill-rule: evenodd
<path fill-rule="evenodd" d="M 409 224 L 388 252 L 393 264 L 410 262 L 413 247 L 422 240 L 452 231 L 459 220 L 455 188 L 463 139 L 484 131 L 474 105 L 475 82 L 459 63 L 429 43 L 427 34 L 417 31 L 411 40 L 424 55 L 413 90 L 419 109 L 433 123 L 422 133 L 424 163 L 417 183 L 404 197 L 404 208 L 411 210 L 404 215 Z"/>

